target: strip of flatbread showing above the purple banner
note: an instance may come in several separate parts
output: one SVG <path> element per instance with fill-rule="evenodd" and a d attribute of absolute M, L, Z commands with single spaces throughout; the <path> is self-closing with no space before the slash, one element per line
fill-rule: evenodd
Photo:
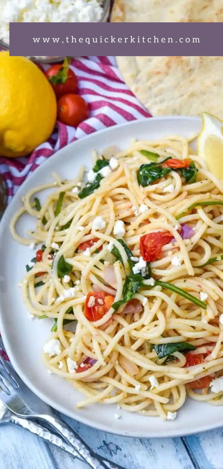
<path fill-rule="evenodd" d="M 222 23 L 222 0 L 115 0 L 112 23 Z"/>

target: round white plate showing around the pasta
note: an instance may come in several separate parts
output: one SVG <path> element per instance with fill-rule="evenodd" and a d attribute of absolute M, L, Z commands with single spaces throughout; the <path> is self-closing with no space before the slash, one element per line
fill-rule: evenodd
<path fill-rule="evenodd" d="M 134 437 L 172 437 L 216 428 L 223 423 L 223 407 L 214 407 L 187 399 L 174 421 L 163 422 L 158 417 L 143 417 L 119 411 L 116 405 L 93 404 L 76 409 L 82 399 L 63 379 L 49 374 L 41 360 L 41 348 L 48 337 L 52 321 L 31 321 L 22 303 L 18 283 L 25 272 L 25 264 L 33 257 L 29 247 L 15 242 L 9 233 L 9 221 L 21 206 L 21 197 L 31 188 L 49 182 L 53 171 L 64 178 L 74 177 L 78 166 L 92 166 L 91 151 L 103 150 L 110 144 L 126 148 L 131 138 L 156 139 L 170 135 L 192 136 L 201 128 L 201 121 L 190 117 L 149 118 L 96 132 L 58 151 L 35 170 L 18 190 L 0 222 L 0 331 L 9 358 L 23 381 L 53 408 L 84 424 L 100 430 Z M 23 217 L 22 231 L 30 229 L 30 219 Z"/>

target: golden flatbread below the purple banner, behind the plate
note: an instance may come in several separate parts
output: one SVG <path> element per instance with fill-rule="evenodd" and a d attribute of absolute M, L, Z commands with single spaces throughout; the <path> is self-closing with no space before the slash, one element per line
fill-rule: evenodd
<path fill-rule="evenodd" d="M 154 116 L 223 119 L 223 57 L 117 57 L 121 75 Z"/>

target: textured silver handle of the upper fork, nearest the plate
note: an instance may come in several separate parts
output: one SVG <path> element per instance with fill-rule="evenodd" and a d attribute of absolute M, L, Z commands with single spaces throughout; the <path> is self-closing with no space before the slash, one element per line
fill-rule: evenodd
<path fill-rule="evenodd" d="M 38 416 L 38 419 L 41 418 L 50 424 L 54 430 L 59 432 L 59 434 L 73 446 L 75 451 L 79 454 L 79 457 L 83 461 L 86 461 L 89 466 L 93 469 L 125 469 L 119 465 L 114 464 L 111 461 L 107 461 L 101 456 L 94 453 L 89 446 L 74 433 L 74 431 L 62 420 L 59 416 L 53 415 L 41 415 Z"/>

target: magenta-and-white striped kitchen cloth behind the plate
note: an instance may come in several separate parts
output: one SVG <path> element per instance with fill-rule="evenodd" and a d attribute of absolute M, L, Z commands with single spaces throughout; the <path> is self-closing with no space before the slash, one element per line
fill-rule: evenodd
<path fill-rule="evenodd" d="M 43 66 L 43 70 L 48 67 Z M 72 59 L 70 67 L 77 76 L 79 94 L 89 103 L 90 117 L 77 128 L 57 122 L 49 140 L 29 157 L 0 157 L 0 174 L 7 184 L 8 202 L 26 177 L 65 145 L 112 125 L 150 117 L 123 82 L 114 57 L 77 57 Z"/>

